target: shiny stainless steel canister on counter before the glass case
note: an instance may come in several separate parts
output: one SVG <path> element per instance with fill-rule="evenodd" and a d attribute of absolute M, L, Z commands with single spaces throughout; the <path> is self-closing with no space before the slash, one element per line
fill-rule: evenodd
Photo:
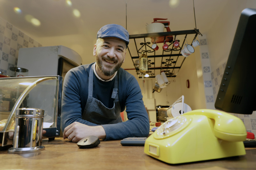
<path fill-rule="evenodd" d="M 15 112 L 13 147 L 9 153 L 44 150 L 42 146 L 44 110 L 19 108 Z"/>

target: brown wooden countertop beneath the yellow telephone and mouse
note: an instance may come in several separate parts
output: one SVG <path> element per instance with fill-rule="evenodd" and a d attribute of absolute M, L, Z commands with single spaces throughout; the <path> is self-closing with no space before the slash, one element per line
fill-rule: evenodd
<path fill-rule="evenodd" d="M 143 146 L 122 146 L 120 140 L 100 141 L 91 149 L 79 149 L 67 139 L 43 140 L 45 150 L 14 154 L 0 151 L 0 169 L 256 169 L 256 149 L 246 155 L 185 164 L 167 164 L 144 153 Z"/>

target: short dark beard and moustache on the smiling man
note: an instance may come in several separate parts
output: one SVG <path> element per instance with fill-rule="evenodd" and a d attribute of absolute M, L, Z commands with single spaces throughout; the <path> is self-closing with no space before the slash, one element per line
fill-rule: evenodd
<path fill-rule="evenodd" d="M 103 66 L 102 65 L 102 60 L 109 60 L 109 61 L 113 61 L 113 62 L 115 62 L 115 63 L 117 63 L 118 62 L 118 60 L 116 60 L 115 58 L 110 58 L 110 57 L 104 57 L 104 56 L 102 56 L 101 57 L 101 59 L 100 59 L 100 57 L 97 55 L 97 53 L 96 53 L 96 63 L 97 63 L 97 65 L 99 66 L 99 68 L 100 68 L 100 72 L 104 75 L 104 76 L 108 76 L 108 77 L 110 77 L 110 76 L 112 76 L 113 74 L 115 74 L 115 72 L 122 66 L 122 64 L 123 64 L 123 61 L 124 61 L 124 59 L 120 62 L 120 63 L 117 63 L 117 65 L 114 67 L 114 68 L 112 68 L 111 66 L 108 66 L 108 65 L 106 65 L 106 66 Z"/>

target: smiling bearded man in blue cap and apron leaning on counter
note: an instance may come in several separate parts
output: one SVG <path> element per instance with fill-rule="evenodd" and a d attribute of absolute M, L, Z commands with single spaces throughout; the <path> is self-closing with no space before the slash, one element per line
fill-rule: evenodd
<path fill-rule="evenodd" d="M 63 83 L 61 130 L 77 142 L 94 135 L 105 140 L 147 137 L 148 114 L 140 86 L 124 63 L 129 33 L 120 25 L 100 28 L 93 48 L 96 63 L 68 71 Z M 128 121 L 120 113 L 126 107 Z"/>

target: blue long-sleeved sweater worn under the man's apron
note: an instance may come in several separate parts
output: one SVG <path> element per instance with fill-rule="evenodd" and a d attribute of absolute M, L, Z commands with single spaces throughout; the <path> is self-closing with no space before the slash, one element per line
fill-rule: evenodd
<path fill-rule="evenodd" d="M 93 63 L 92 63 L 93 64 Z M 63 82 L 61 100 L 61 130 L 73 122 L 89 126 L 97 126 L 82 119 L 88 98 L 89 72 L 92 64 L 81 65 L 68 71 Z M 118 76 L 118 97 L 121 111 L 125 110 L 128 121 L 116 124 L 102 124 L 106 132 L 106 140 L 118 140 L 126 137 L 148 137 L 149 121 L 144 107 L 138 81 L 134 76 L 120 68 Z M 93 73 L 93 97 L 100 100 L 106 107 L 113 107 L 110 101 L 114 81 L 103 82 Z M 102 88 L 102 86 L 106 86 Z M 110 97 L 109 97 L 110 96 Z"/>

